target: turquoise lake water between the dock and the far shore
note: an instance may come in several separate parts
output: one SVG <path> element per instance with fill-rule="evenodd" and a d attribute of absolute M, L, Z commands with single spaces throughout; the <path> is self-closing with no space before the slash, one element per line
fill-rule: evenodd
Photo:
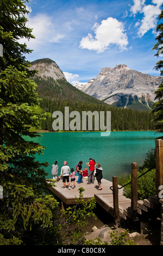
<path fill-rule="evenodd" d="M 40 162 L 47 161 L 47 178 L 52 178 L 51 169 L 55 160 L 60 169 L 67 161 L 70 168 L 82 160 L 83 168 L 89 158 L 95 159 L 103 168 L 103 178 L 112 180 L 112 176 L 130 173 L 131 162 L 141 165 L 146 153 L 155 148 L 155 139 L 159 137 L 153 131 L 111 132 L 102 137 L 101 132 L 49 132 L 40 133 L 42 137 L 34 141 L 47 149 L 43 155 L 36 156 Z"/>

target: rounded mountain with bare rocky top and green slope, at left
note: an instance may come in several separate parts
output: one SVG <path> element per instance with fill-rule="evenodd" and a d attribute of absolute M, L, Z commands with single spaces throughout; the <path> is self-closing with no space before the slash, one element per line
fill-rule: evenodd
<path fill-rule="evenodd" d="M 33 77 L 37 84 L 37 93 L 39 97 L 55 99 L 58 101 L 70 100 L 79 102 L 90 102 L 103 105 L 104 102 L 96 97 L 83 93 L 81 90 L 68 83 L 64 73 L 59 66 L 51 59 L 37 59 L 30 63 L 30 70 L 37 70 L 39 74 Z"/>

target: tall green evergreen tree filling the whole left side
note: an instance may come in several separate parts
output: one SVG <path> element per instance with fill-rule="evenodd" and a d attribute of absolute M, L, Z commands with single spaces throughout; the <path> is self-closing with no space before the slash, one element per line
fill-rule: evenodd
<path fill-rule="evenodd" d="M 4 56 L 0 57 L 0 185 L 4 192 L 0 198 L 1 245 L 26 244 L 32 238 L 35 243 L 36 231 L 53 227 L 58 205 L 52 196 L 43 196 L 51 185 L 46 181 L 47 163 L 36 161 L 35 155 L 42 154 L 44 148 L 30 141 L 39 136 L 30 132 L 30 127 L 37 129 L 45 117 L 30 108 L 39 105 L 40 99 L 23 57 L 30 51 L 17 42 L 22 36 L 33 37 L 26 27 L 24 15 L 28 11 L 23 3 L 0 3 L 0 42 L 4 47 Z"/>

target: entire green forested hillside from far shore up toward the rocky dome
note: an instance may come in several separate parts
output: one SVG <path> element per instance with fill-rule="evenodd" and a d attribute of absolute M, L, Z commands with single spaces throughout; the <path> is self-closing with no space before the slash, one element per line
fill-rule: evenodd
<path fill-rule="evenodd" d="M 148 111 L 109 106 L 83 93 L 65 80 L 54 80 L 52 77 L 44 79 L 37 76 L 34 81 L 37 84 L 37 93 L 42 99 L 40 102 L 42 112 L 48 113 L 46 120 L 41 122 L 41 130 L 53 131 L 52 113 L 61 111 L 64 114 L 65 107 L 69 107 L 70 112 L 78 111 L 81 117 L 82 111 L 111 111 L 111 131 L 154 130 L 153 115 Z"/>

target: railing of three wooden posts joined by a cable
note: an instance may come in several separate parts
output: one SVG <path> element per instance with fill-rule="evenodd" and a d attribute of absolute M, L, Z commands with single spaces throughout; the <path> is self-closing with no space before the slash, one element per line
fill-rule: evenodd
<path fill-rule="evenodd" d="M 145 175 L 147 172 L 156 168 L 155 179 L 156 179 L 156 196 L 159 197 L 160 189 L 159 187 L 163 185 L 163 140 L 156 139 L 155 141 L 155 157 L 156 157 L 156 164 L 145 173 L 141 174 L 140 176 L 137 175 L 137 163 L 131 163 L 131 181 L 128 184 L 124 185 L 127 186 L 131 184 L 131 210 L 133 210 L 133 214 L 137 211 L 137 183 L 138 179 Z M 112 177 L 112 186 L 110 189 L 112 190 L 113 194 L 113 203 L 114 203 L 114 218 L 115 218 L 115 225 L 117 226 L 117 219 L 119 214 L 119 206 L 118 206 L 118 190 L 123 188 L 118 187 L 118 179 L 117 176 Z M 135 215 L 136 218 L 136 215 Z"/>

